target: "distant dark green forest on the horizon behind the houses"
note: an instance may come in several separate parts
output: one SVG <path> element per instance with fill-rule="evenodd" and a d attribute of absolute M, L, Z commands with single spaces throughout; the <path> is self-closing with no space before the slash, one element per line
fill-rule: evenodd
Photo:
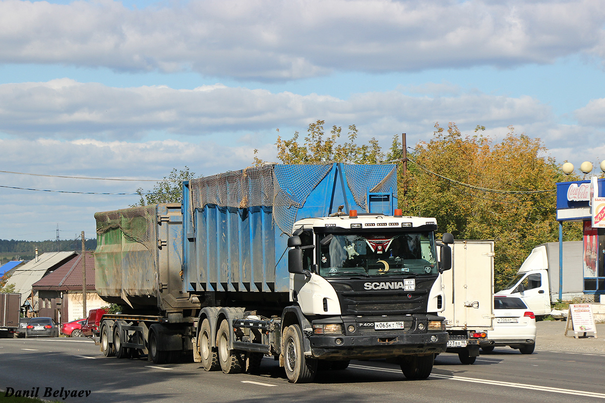
<path fill-rule="evenodd" d="M 86 250 L 95 250 L 97 247 L 96 239 L 87 239 L 85 241 Z M 61 239 L 57 240 L 15 240 L 0 239 L 0 263 L 4 264 L 9 260 L 31 260 L 38 254 L 45 252 L 81 251 L 81 239 Z"/>

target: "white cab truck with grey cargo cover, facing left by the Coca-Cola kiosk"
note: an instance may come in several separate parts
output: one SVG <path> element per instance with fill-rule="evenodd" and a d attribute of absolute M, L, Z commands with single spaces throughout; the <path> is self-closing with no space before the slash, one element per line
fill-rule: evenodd
<path fill-rule="evenodd" d="M 561 300 L 584 295 L 584 243 L 563 242 L 563 288 Z M 551 303 L 559 297 L 559 243 L 535 247 L 514 277 L 498 294 L 521 297 L 535 315 L 551 313 Z"/>

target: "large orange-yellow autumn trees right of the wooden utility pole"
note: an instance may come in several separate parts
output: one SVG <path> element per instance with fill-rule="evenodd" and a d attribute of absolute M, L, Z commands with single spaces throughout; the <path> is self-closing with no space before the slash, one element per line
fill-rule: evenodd
<path fill-rule="evenodd" d="M 434 137 L 408 155 L 400 181 L 405 214 L 437 218 L 440 231 L 456 239 L 495 240 L 496 288 L 517 272 L 535 245 L 558 240 L 555 183 L 569 180 L 539 138 L 509 127 L 499 143 L 477 126 L 463 136 L 456 124 L 435 125 Z M 389 156 L 394 155 L 391 147 Z M 571 225 L 566 239 L 580 239 Z"/>

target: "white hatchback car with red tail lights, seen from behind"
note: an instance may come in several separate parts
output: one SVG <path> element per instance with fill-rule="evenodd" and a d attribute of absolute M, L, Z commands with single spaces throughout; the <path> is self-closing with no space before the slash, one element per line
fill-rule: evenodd
<path fill-rule="evenodd" d="M 494 295 L 494 330 L 489 330 L 488 340 L 481 343 L 484 352 L 494 347 L 509 346 L 522 354 L 535 349 L 535 315 L 521 298 Z"/>

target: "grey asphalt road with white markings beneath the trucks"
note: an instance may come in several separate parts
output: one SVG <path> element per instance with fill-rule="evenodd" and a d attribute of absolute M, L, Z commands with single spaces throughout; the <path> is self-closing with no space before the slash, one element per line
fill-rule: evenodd
<path fill-rule="evenodd" d="M 353 361 L 347 370 L 320 372 L 313 384 L 293 385 L 268 358 L 258 375 L 225 375 L 192 362 L 155 366 L 146 359 L 105 358 L 84 339 L 0 339 L 0 388 L 39 388 L 41 398 L 47 388 L 90 391 L 88 397 L 64 399 L 87 403 L 605 402 L 604 358 L 605 353 L 539 348 L 522 355 L 502 347 L 470 366 L 457 355 L 439 355 L 430 378 L 422 381 L 406 380 L 385 361 Z"/>

